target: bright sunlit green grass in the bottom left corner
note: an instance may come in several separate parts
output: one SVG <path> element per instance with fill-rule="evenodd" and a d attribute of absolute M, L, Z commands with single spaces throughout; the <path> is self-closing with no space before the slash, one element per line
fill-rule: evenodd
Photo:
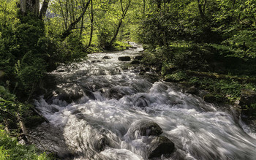
<path fill-rule="evenodd" d="M 18 144 L 14 137 L 10 137 L 0 126 L 0 159 L 51 159 L 45 153 L 38 154 L 34 145 L 25 146 Z"/>

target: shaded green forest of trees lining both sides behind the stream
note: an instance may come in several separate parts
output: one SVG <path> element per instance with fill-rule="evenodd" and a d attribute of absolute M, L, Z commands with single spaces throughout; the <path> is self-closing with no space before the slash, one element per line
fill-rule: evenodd
<path fill-rule="evenodd" d="M 47 72 L 124 41 L 143 44 L 164 80 L 234 104 L 255 94 L 255 26 L 256 0 L 0 0 L 1 128 L 39 119 L 29 102 Z M 255 117 L 256 102 L 243 105 Z"/>

